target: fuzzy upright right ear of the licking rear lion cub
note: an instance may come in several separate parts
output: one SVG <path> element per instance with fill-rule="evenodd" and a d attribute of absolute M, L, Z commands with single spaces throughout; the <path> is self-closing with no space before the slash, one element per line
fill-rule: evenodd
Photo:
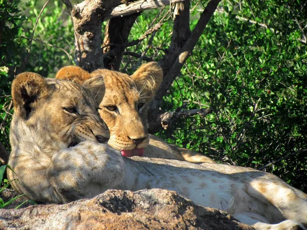
<path fill-rule="evenodd" d="M 140 95 L 149 103 L 153 96 L 155 96 L 162 82 L 163 71 L 157 62 L 148 62 L 142 64 L 141 67 L 131 75 L 131 78 L 134 79 Z"/>

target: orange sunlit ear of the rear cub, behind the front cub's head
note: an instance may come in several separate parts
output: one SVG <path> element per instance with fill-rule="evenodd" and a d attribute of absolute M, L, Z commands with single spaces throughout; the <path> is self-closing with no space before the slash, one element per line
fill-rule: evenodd
<path fill-rule="evenodd" d="M 91 75 L 79 66 L 69 65 L 62 67 L 55 78 L 83 84 L 84 81 L 91 78 Z"/>

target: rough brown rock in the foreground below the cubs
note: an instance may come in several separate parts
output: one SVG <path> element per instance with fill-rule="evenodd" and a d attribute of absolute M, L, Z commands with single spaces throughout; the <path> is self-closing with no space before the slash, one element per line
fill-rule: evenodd
<path fill-rule="evenodd" d="M 176 192 L 108 190 L 68 204 L 0 212 L 0 229 L 254 229 Z"/>

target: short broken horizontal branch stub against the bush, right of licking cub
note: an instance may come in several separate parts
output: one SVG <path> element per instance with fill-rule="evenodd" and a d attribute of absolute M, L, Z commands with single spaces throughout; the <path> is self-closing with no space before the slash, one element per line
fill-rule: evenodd
<path fill-rule="evenodd" d="M 191 117 L 194 115 L 200 115 L 201 117 L 206 117 L 211 113 L 211 109 L 177 109 L 172 112 L 164 112 L 157 116 L 157 118 L 152 119 L 148 122 L 148 131 L 150 133 L 155 133 L 161 130 L 162 128 L 167 129 L 171 124 L 178 120 L 180 117 Z"/>

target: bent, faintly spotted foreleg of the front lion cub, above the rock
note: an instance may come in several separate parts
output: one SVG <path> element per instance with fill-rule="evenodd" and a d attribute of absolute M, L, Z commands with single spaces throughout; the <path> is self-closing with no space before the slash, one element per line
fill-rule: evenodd
<path fill-rule="evenodd" d="M 121 155 L 107 145 L 81 142 L 52 157 L 48 180 L 62 202 L 92 198 L 124 178 Z"/>

